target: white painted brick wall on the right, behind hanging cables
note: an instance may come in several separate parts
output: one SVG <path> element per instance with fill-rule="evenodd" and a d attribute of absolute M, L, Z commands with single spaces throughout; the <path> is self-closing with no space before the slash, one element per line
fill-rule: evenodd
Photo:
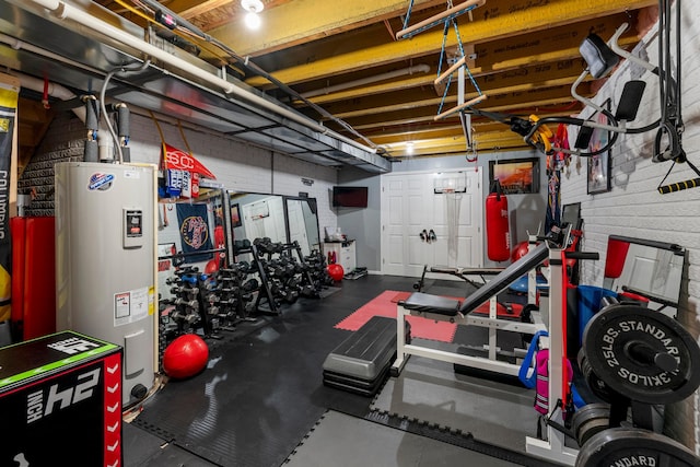
<path fill-rule="evenodd" d="M 677 2 L 676 2 L 677 4 Z M 676 5 L 674 4 L 674 11 Z M 686 130 L 682 145 L 688 160 L 700 166 L 700 0 L 681 5 L 682 119 Z M 675 25 L 675 17 L 672 16 Z M 675 27 L 673 34 L 675 35 Z M 637 51 L 657 63 L 658 31 L 653 28 Z M 605 38 L 607 39 L 607 37 Z M 675 56 L 675 39 L 672 42 Z M 617 106 L 623 84 L 639 77 L 639 68 L 625 62 L 598 92 L 596 103 L 611 97 Z M 657 80 L 645 72 L 648 87 L 638 118 L 630 127 L 654 121 L 661 114 Z M 661 195 L 656 190 L 672 162 L 653 163 L 655 131 L 622 136 L 612 148 L 612 189 L 586 195 L 586 160 L 574 156 L 570 171 L 562 175 L 562 203 L 581 202 L 585 225 L 584 249 L 602 254 L 599 261 L 583 261 L 582 283 L 602 285 L 605 249 L 610 234 L 676 243 L 687 248 L 687 273 L 681 284 L 678 319 L 697 338 L 700 335 L 700 188 Z M 574 135 L 570 135 L 573 147 Z M 579 167 L 580 165 L 580 167 Z M 676 164 L 665 184 L 696 178 L 687 164 Z M 700 362 L 695 362 L 700 369 Z M 700 371 L 700 370 L 696 370 Z M 700 454 L 700 396 L 689 397 L 666 410 L 666 432 Z"/>

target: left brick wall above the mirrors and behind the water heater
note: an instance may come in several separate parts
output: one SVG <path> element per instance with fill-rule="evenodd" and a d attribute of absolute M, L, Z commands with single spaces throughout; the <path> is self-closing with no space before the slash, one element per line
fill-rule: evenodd
<path fill-rule="evenodd" d="M 158 164 L 161 137 L 151 118 L 131 114 L 131 160 Z M 176 125 L 160 122 L 168 144 L 186 150 Z M 318 223 L 336 226 L 329 192 L 337 183 L 337 171 L 224 138 L 205 129 L 184 128 L 185 138 L 195 156 L 217 175 L 217 182 L 236 191 L 271 192 L 298 196 L 307 192 L 318 202 Z M 36 192 L 27 215 L 54 214 L 54 164 L 82 161 L 84 125 L 71 113 L 59 114 L 34 157 L 19 180 L 20 192 Z M 302 178 L 312 179 L 311 186 Z"/>

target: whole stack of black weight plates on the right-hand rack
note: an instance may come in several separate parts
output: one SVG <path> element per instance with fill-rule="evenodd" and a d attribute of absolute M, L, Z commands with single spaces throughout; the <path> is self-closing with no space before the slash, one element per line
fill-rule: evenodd
<path fill-rule="evenodd" d="M 700 385 L 700 348 L 675 319 L 610 299 L 587 324 L 579 365 L 592 393 L 571 418 L 581 447 L 576 467 L 700 466 L 700 458 L 661 434 L 666 404 Z"/>

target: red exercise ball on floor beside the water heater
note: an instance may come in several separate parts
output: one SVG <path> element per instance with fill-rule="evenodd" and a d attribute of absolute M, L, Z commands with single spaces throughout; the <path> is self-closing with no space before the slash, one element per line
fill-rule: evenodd
<path fill-rule="evenodd" d="M 202 371 L 208 360 L 207 342 L 195 334 L 186 334 L 165 348 L 163 370 L 172 378 L 184 380 Z"/>

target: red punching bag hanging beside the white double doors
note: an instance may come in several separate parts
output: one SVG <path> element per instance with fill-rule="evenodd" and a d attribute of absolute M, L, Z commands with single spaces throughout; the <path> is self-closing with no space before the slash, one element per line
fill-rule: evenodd
<path fill-rule="evenodd" d="M 511 257 L 511 232 L 508 213 L 508 199 L 501 192 L 497 179 L 486 198 L 487 252 L 492 261 L 505 261 Z"/>

